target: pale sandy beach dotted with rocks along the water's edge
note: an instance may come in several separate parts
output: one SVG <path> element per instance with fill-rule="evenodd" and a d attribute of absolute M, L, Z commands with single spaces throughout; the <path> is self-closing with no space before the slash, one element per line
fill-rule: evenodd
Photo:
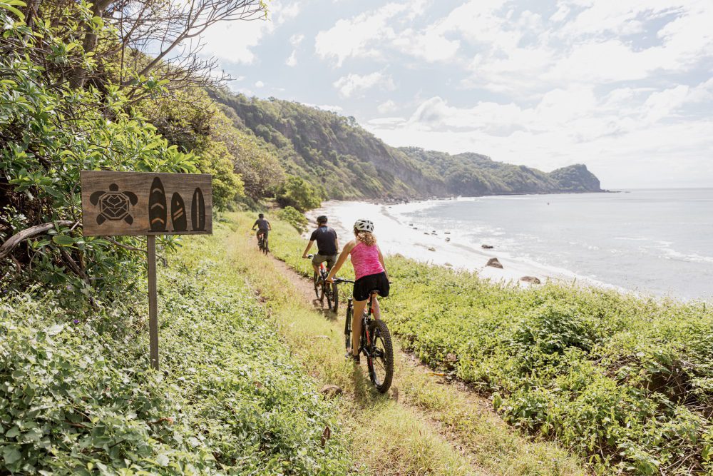
<path fill-rule="evenodd" d="M 426 229 L 399 217 L 399 212 L 414 206 L 423 206 L 423 203 L 389 205 L 328 201 L 323 203 L 321 208 L 307 213 L 307 218 L 312 227 L 317 216 L 327 215 L 330 226 L 339 235 L 340 243 L 352 239 L 352 223 L 357 218 L 369 218 L 374 221 L 374 233 L 379 240 L 379 246 L 387 255 L 399 253 L 423 263 L 476 271 L 481 277 L 491 280 L 527 286 L 529 283 L 520 278 L 534 276 L 543 283 L 546 280 L 582 280 L 593 285 L 605 285 L 579 277 L 568 270 L 545 268 L 538 263 L 515 260 L 508 253 L 498 250 L 493 243 L 487 243 L 492 244 L 493 249 L 483 249 L 481 245 L 486 243 L 463 240 L 459 238 L 458 230 Z M 448 238 L 450 239 L 447 240 Z M 498 258 L 503 268 L 487 266 L 490 258 Z"/>

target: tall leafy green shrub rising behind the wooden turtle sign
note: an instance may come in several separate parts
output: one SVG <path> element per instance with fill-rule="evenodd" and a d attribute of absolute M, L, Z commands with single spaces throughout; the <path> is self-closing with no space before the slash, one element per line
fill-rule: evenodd
<path fill-rule="evenodd" d="M 21 244 L 0 258 L 1 288 L 26 283 L 74 292 L 76 305 L 87 298 L 111 299 L 130 282 L 138 255 L 105 239 L 83 238 L 79 171 L 195 172 L 195 157 L 158 136 L 119 86 L 71 88 L 63 68 L 91 71 L 96 64 L 83 53 L 71 29 L 83 21 L 98 35 L 115 35 L 93 21 L 86 4 L 71 4 L 55 22 L 35 21 L 30 29 L 0 9 L 0 240 L 45 223 L 50 234 Z M 69 29 L 70 32 L 66 31 Z M 151 96 L 158 81 L 138 88 Z M 137 246 L 135 238 L 121 238 Z M 172 243 L 168 241 L 165 243 Z M 69 298 L 66 298 L 69 299 Z"/>

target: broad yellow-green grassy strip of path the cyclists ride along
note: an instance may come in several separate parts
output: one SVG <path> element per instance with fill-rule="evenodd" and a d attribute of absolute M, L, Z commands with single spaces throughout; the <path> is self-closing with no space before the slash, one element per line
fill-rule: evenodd
<path fill-rule="evenodd" d="M 252 223 L 250 218 L 237 219 Z M 285 223 L 272 218 L 271 223 L 270 246 L 275 255 L 304 275 L 312 273 L 309 260 L 301 258 L 304 240 Z M 294 292 L 289 280 L 275 278 L 270 258 L 256 258 L 254 243 L 248 243 L 248 249 L 235 253 L 245 260 L 251 284 L 269 296 L 267 305 L 275 309 L 290 346 L 322 382 L 336 383 L 349 395 L 340 406 L 344 427 L 353 440 L 354 460 L 370 462 L 379 475 L 585 474 L 578 458 L 551 442 L 518 435 L 490 408 L 483 407 L 481 398 L 454 385 L 442 385 L 440 378 L 429 375 L 398 350 L 392 385 L 396 391 L 388 396 L 374 393 L 363 369 L 354 374 L 349 366 L 345 368 L 344 307 L 339 316 L 325 318 L 315 313 L 304 297 Z M 339 274 L 349 273 L 347 266 Z M 385 315 L 389 325 L 391 317 Z M 379 460 L 381 454 L 389 457 Z"/>

